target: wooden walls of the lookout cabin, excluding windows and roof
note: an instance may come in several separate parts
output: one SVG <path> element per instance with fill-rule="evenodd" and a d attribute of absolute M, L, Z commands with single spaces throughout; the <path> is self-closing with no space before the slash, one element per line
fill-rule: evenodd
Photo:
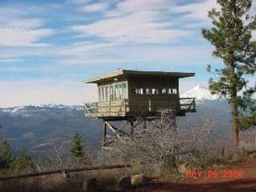
<path fill-rule="evenodd" d="M 180 110 L 178 78 L 127 77 L 115 82 L 128 81 L 128 99 L 126 101 L 98 102 L 98 116 L 136 116 L 154 113 L 160 109 Z M 108 85 L 114 81 L 102 82 L 98 86 Z M 134 94 L 136 88 L 176 88 L 177 94 Z"/>

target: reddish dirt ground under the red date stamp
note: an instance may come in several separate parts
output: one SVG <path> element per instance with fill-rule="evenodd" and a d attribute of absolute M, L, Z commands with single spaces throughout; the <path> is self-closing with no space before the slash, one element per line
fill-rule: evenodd
<path fill-rule="evenodd" d="M 217 173 L 217 174 L 216 174 Z M 154 180 L 135 192 L 256 192 L 256 161 L 234 162 L 229 167 L 207 170 L 198 177 L 184 178 L 178 182 Z"/>

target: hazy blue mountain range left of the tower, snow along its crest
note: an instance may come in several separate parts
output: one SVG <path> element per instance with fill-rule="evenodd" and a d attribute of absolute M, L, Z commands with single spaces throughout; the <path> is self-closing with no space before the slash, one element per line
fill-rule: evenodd
<path fill-rule="evenodd" d="M 0 143 L 6 138 L 15 151 L 51 153 L 57 146 L 69 153 L 74 133 L 82 134 L 90 148 L 98 149 L 102 122 L 86 118 L 84 106 L 58 104 L 0 108 Z"/>

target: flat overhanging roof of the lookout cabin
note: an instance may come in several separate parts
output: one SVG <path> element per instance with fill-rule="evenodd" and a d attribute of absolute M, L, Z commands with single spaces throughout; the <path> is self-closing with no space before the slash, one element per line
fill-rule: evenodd
<path fill-rule="evenodd" d="M 96 78 L 84 80 L 84 83 L 100 83 L 106 82 L 113 78 L 133 78 L 133 77 L 149 77 L 149 78 L 188 78 L 194 77 L 194 73 L 182 72 L 166 72 L 166 71 L 145 71 L 145 70 L 117 70 L 110 74 L 105 74 Z"/>

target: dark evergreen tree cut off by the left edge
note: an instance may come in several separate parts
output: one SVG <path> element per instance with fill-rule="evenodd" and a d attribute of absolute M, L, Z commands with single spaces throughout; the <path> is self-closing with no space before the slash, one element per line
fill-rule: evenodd
<path fill-rule="evenodd" d="M 7 140 L 2 142 L 2 150 L 0 154 L 0 168 L 8 169 L 14 162 L 14 154 L 11 153 L 10 144 Z"/>

